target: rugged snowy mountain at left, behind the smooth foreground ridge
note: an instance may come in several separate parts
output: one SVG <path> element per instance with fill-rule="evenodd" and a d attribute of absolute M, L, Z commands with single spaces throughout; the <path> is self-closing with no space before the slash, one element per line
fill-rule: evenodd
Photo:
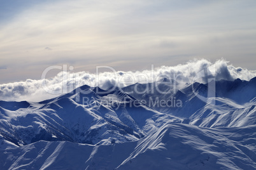
<path fill-rule="evenodd" d="M 120 143 L 144 137 L 148 132 L 146 120 L 164 116 L 143 104 L 133 107 L 136 100 L 118 90 L 101 96 L 95 88 L 85 90 L 15 111 L 0 107 L 1 134 L 22 145 L 39 140 Z M 83 97 L 87 103 L 82 103 Z M 169 119 L 182 121 L 172 116 Z"/>

